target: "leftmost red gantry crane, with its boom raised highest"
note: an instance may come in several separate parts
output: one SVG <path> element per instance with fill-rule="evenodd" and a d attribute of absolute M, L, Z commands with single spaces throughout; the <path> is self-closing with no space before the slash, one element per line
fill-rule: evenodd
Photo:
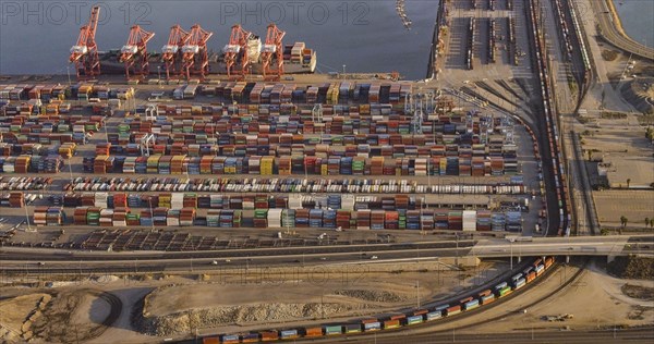
<path fill-rule="evenodd" d="M 82 73 L 87 78 L 100 75 L 100 57 L 98 56 L 98 46 L 95 40 L 99 16 L 100 7 L 93 7 L 88 24 L 82 26 L 77 44 L 71 48 L 69 61 L 75 63 L 77 78 L 82 78 Z"/>

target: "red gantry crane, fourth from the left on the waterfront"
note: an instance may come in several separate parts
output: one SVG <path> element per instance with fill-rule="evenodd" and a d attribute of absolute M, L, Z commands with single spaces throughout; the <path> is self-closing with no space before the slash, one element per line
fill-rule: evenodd
<path fill-rule="evenodd" d="M 191 27 L 189 34 L 189 40 L 186 45 L 182 47 L 182 60 L 184 61 L 184 73 L 186 78 L 190 79 L 191 75 L 199 75 L 201 79 L 204 79 L 205 75 L 209 73 L 209 54 L 207 51 L 207 40 L 211 38 L 214 33 L 204 30 L 199 24 Z"/>

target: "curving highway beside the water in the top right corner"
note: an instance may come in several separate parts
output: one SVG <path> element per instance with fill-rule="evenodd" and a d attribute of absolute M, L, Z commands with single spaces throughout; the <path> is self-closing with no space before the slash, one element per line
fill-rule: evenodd
<path fill-rule="evenodd" d="M 613 15 L 605 0 L 590 1 L 600 25 L 600 34 L 611 45 L 647 60 L 654 60 L 654 49 L 622 35 L 614 23 Z"/>

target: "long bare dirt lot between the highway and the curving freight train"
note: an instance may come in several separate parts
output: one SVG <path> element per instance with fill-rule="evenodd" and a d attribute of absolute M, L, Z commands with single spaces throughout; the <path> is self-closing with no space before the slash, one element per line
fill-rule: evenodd
<path fill-rule="evenodd" d="M 366 317 L 415 307 L 419 299 L 426 305 L 494 277 L 496 269 L 484 263 L 450 271 L 421 262 L 374 273 L 340 266 L 310 273 L 280 269 L 246 278 L 210 277 L 204 283 L 171 284 L 150 293 L 144 302 L 142 327 L 147 333 L 179 335 L 195 328 L 216 333 Z"/>

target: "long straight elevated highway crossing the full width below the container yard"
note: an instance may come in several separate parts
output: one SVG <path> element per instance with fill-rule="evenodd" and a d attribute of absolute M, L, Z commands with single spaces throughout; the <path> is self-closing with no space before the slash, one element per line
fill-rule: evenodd
<path fill-rule="evenodd" d="M 634 242 L 635 239 L 639 242 Z M 531 242 L 483 239 L 474 245 L 467 241 L 459 243 L 458 247 L 443 246 L 441 242 L 436 242 L 196 253 L 89 253 L 39 249 L 38 259 L 34 259 L 32 248 L 4 247 L 0 249 L 0 257 L 2 257 L 0 272 L 25 274 L 39 274 L 45 271 L 49 273 L 210 272 L 284 266 L 338 269 L 343 265 L 436 261 L 443 257 L 463 256 L 506 258 L 626 255 L 654 256 L 653 237 L 651 235 L 538 237 L 532 238 Z"/>

